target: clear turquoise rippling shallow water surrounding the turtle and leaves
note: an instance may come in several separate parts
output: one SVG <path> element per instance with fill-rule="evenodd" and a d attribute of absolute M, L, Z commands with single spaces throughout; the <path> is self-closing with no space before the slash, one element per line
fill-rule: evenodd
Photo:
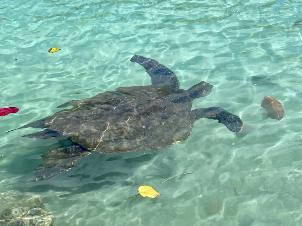
<path fill-rule="evenodd" d="M 56 226 L 302 225 L 301 10 L 300 1 L 2 1 L 0 107 L 20 110 L 0 118 L 0 190 L 40 194 Z M 168 66 L 181 88 L 214 85 L 193 108 L 223 107 L 245 131 L 200 119 L 183 143 L 92 153 L 35 181 L 40 155 L 66 141 L 5 131 L 71 99 L 149 85 L 133 54 Z M 282 103 L 281 121 L 266 117 L 264 96 Z M 192 174 L 162 184 L 183 172 Z M 131 199 L 143 184 L 161 195 Z"/>

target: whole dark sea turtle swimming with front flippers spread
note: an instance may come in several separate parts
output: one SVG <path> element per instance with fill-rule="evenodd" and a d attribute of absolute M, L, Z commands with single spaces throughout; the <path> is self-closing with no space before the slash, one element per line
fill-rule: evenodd
<path fill-rule="evenodd" d="M 211 92 L 213 86 L 209 83 L 202 81 L 187 90 L 180 89 L 176 75 L 165 65 L 139 55 L 131 61 L 146 69 L 151 86 L 120 87 L 88 99 L 72 100 L 58 108 L 73 108 L 20 127 L 46 128 L 24 137 L 64 136 L 73 142 L 42 155 L 37 180 L 70 169 L 92 151 L 108 154 L 156 150 L 184 141 L 199 118 L 218 119 L 233 132 L 242 130 L 239 116 L 223 108 L 191 110 L 195 98 Z"/>

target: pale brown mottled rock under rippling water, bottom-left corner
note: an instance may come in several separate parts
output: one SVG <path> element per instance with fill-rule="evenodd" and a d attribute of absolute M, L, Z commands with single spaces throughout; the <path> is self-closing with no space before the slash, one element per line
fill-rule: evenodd
<path fill-rule="evenodd" d="M 0 193 L 0 226 L 52 226 L 54 220 L 41 196 L 13 190 Z"/>

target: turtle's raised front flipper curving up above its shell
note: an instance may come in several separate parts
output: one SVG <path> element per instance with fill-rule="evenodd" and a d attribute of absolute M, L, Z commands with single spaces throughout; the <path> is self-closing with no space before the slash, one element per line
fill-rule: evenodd
<path fill-rule="evenodd" d="M 176 75 L 168 67 L 158 61 L 139 55 L 134 55 L 130 61 L 142 65 L 151 77 L 153 86 L 168 86 L 179 88 L 179 81 Z"/>

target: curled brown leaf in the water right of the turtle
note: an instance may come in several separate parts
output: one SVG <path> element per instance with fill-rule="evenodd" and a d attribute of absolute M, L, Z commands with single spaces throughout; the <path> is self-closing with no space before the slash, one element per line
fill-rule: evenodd
<path fill-rule="evenodd" d="M 265 96 L 261 102 L 261 107 L 265 108 L 267 116 L 280 120 L 283 118 L 284 111 L 281 103 L 270 96 Z"/>

